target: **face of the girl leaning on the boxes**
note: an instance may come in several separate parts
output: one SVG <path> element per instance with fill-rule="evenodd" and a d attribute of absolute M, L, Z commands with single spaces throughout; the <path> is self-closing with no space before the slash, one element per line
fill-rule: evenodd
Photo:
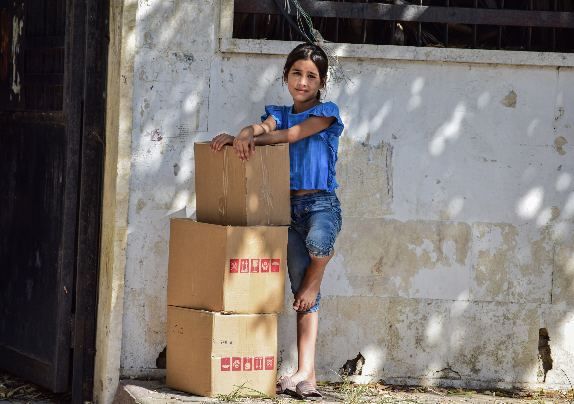
<path fill-rule="evenodd" d="M 311 60 L 299 59 L 293 63 L 285 80 L 294 101 L 309 102 L 324 87 L 319 69 Z"/>

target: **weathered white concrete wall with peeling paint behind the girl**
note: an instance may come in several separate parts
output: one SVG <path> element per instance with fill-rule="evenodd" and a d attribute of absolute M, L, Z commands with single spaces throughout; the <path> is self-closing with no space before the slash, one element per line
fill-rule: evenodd
<path fill-rule="evenodd" d="M 195 212 L 193 142 L 259 122 L 266 104 L 292 103 L 277 80 L 285 55 L 241 46 L 293 45 L 227 40 L 220 52 L 226 7 L 138 4 L 123 376 L 165 375 L 156 358 L 165 347 L 168 218 Z M 346 129 L 320 379 L 335 379 L 330 370 L 361 352 L 367 379 L 534 386 L 538 330 L 547 327 L 546 385 L 563 385 L 559 367 L 574 375 L 574 68 L 541 65 L 554 56 L 534 53 L 520 53 L 532 65 L 471 63 L 512 63 L 517 53 L 457 49 L 424 49 L 446 61 L 371 59 L 375 48 L 389 47 L 342 59 L 348 87 L 332 86 L 326 98 Z M 280 373 L 296 367 L 290 302 L 288 293 Z"/>

